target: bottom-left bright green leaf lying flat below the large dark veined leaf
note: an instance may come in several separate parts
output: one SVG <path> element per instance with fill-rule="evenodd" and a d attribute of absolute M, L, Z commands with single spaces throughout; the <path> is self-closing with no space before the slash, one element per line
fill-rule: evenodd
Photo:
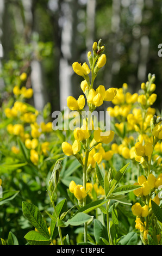
<path fill-rule="evenodd" d="M 30 245 L 49 245 L 51 240 L 35 230 L 29 231 L 24 238 Z"/>

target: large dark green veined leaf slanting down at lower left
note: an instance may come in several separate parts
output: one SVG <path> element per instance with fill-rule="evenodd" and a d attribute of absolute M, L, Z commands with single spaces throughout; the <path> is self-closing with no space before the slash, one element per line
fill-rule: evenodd
<path fill-rule="evenodd" d="M 30 223 L 47 239 L 50 238 L 49 231 L 40 210 L 34 204 L 22 202 L 23 215 Z"/>

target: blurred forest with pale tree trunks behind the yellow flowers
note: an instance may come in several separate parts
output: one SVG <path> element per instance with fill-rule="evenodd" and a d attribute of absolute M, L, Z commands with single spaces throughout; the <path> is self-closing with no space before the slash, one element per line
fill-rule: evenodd
<path fill-rule="evenodd" d="M 128 83 L 133 93 L 151 72 L 161 109 L 161 14 L 161 0 L 1 0 L 1 103 L 16 83 L 8 74 L 27 71 L 33 105 L 42 109 L 51 102 L 52 112 L 62 110 L 67 96 L 81 93 L 72 63 L 86 62 L 102 38 L 108 62 L 96 84 Z"/>

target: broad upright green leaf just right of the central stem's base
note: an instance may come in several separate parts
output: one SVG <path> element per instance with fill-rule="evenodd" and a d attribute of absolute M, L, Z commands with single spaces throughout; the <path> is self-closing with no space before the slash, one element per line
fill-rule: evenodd
<path fill-rule="evenodd" d="M 101 237 L 103 237 L 105 240 L 109 240 L 107 229 L 97 219 L 94 220 L 94 236 L 98 245 L 105 245 Z"/>

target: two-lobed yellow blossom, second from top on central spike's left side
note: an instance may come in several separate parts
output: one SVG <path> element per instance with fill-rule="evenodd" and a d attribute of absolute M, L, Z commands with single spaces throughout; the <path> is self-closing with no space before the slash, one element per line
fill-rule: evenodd
<path fill-rule="evenodd" d="M 76 100 L 72 96 L 67 97 L 67 107 L 70 108 L 72 111 L 83 109 L 84 106 L 85 106 L 84 95 L 80 95 L 78 100 Z"/>

